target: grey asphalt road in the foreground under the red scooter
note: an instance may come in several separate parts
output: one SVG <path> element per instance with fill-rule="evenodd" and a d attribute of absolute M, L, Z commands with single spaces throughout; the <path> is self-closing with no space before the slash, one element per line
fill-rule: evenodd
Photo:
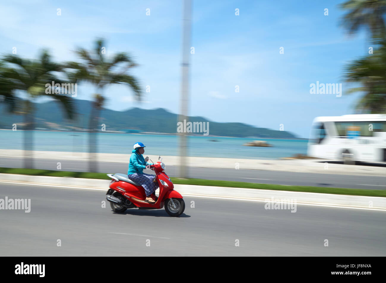
<path fill-rule="evenodd" d="M 383 211 L 184 197 L 172 218 L 113 213 L 105 191 L 0 183 L 5 196 L 31 199 L 31 211 L 0 210 L 0 256 L 386 256 Z"/>

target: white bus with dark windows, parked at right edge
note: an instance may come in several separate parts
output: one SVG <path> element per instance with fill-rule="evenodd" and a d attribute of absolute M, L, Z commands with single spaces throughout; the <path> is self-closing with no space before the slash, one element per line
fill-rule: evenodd
<path fill-rule="evenodd" d="M 316 117 L 308 156 L 349 162 L 386 162 L 386 114 Z"/>

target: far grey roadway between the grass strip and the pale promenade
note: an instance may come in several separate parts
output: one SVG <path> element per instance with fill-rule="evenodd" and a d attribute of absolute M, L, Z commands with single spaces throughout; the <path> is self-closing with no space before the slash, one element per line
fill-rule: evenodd
<path fill-rule="evenodd" d="M 88 171 L 88 163 L 85 161 L 36 159 L 35 168 L 45 170 L 57 170 L 56 164 L 61 162 L 63 171 Z M 20 158 L 0 157 L 0 167 L 23 167 Z M 99 162 L 99 172 L 127 173 L 127 163 Z M 166 173 L 171 177 L 178 176 L 177 166 L 166 164 Z M 329 188 L 353 188 L 353 189 L 386 189 L 385 176 L 359 176 L 338 174 L 314 174 L 301 172 L 284 172 L 268 170 L 244 170 L 244 169 L 219 169 L 189 167 L 190 178 L 239 181 L 261 184 L 279 184 L 293 186 L 317 186 Z"/>

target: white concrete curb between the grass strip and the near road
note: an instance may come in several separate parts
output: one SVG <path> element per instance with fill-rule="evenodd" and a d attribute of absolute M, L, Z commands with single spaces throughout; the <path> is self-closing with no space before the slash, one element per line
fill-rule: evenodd
<path fill-rule="evenodd" d="M 29 176 L 18 174 L 0 174 L 0 181 L 25 184 L 49 184 L 74 188 L 106 189 L 110 180 L 81 179 L 69 177 Z M 292 191 L 274 191 L 263 189 L 227 188 L 213 186 L 195 186 L 175 184 L 176 191 L 186 196 L 207 198 L 240 199 L 246 201 L 296 201 L 297 204 L 339 206 L 386 211 L 386 198 L 372 196 L 348 196 L 340 194 L 303 193 Z"/>

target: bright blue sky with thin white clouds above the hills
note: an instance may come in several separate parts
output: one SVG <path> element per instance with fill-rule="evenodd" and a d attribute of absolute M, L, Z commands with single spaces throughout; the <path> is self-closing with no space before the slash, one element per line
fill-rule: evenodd
<path fill-rule="evenodd" d="M 361 94 L 345 93 L 352 85 L 345 82 L 344 66 L 369 55 L 371 44 L 366 30 L 347 35 L 340 26 L 342 2 L 193 0 L 195 52 L 185 51 L 191 64 L 188 115 L 275 130 L 283 124 L 284 131 L 308 138 L 315 117 L 355 114 Z M 37 58 L 48 49 L 59 62 L 79 61 L 78 47 L 91 49 L 104 38 L 106 56 L 127 52 L 139 64 L 131 74 L 144 90 L 139 103 L 128 87 L 109 86 L 105 107 L 179 113 L 182 18 L 181 0 L 3 1 L 0 54 L 16 47 L 17 55 Z M 341 83 L 342 96 L 310 94 L 317 81 Z M 76 98 L 91 100 L 95 92 L 81 83 Z"/>

